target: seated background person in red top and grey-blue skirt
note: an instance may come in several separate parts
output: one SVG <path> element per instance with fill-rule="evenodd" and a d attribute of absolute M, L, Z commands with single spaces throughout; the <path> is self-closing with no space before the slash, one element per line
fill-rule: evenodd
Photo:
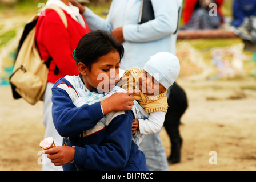
<path fill-rule="evenodd" d="M 223 23 L 221 6 L 224 0 L 186 0 L 182 12 L 184 26 L 181 30 L 214 29 Z M 215 3 L 217 16 L 210 16 L 214 8 L 210 3 Z M 216 11 L 216 10 L 215 10 Z"/>

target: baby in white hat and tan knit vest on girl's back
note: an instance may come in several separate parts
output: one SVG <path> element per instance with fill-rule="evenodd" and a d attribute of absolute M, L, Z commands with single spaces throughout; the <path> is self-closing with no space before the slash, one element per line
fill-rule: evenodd
<path fill-rule="evenodd" d="M 133 133 L 156 133 L 161 130 L 168 108 L 166 92 L 179 75 L 179 60 L 169 52 L 159 52 L 151 56 L 143 69 L 127 69 L 117 86 L 129 91 L 139 89 L 133 94 L 139 105 L 149 114 L 148 118 L 134 119 Z"/>

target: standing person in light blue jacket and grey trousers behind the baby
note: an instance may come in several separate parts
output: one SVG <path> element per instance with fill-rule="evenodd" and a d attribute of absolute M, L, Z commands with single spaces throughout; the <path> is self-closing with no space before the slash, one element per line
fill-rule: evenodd
<path fill-rule="evenodd" d="M 79 6 L 91 31 L 109 31 L 125 48 L 121 69 L 143 68 L 146 61 L 158 52 L 176 54 L 176 40 L 182 0 L 151 0 L 154 19 L 138 24 L 141 0 L 113 0 L 106 19 L 88 7 Z M 149 134 L 139 145 L 146 155 L 150 170 L 169 170 L 165 149 L 159 133 Z"/>

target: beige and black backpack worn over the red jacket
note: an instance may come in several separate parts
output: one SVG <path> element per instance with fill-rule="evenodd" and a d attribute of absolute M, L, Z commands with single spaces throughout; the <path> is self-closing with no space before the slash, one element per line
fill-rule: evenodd
<path fill-rule="evenodd" d="M 60 7 L 49 5 L 45 9 L 57 11 L 67 27 L 66 15 Z M 35 42 L 35 24 L 38 17 L 38 14 L 34 15 L 24 28 L 19 40 L 13 74 L 9 78 L 13 97 L 15 99 L 22 97 L 32 105 L 43 100 L 51 61 L 51 57 L 46 62 L 41 59 Z"/>

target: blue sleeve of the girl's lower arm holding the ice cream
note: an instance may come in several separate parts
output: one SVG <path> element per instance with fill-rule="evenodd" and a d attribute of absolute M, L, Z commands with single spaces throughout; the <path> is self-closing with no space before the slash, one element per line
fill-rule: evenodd
<path fill-rule="evenodd" d="M 128 113 L 128 114 L 127 114 Z M 131 111 L 118 115 L 106 127 L 106 138 L 98 146 L 75 146 L 74 163 L 91 170 L 123 169 L 130 156 L 133 117 Z"/>

